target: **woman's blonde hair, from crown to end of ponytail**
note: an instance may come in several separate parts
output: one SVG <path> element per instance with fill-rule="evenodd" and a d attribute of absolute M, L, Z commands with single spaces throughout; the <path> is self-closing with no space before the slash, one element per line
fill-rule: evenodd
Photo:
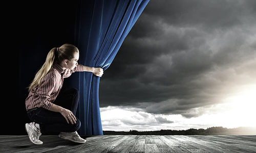
<path fill-rule="evenodd" d="M 63 44 L 58 49 L 56 47 L 52 48 L 47 55 L 46 62 L 35 74 L 34 80 L 29 85 L 29 92 L 32 91 L 32 89 L 34 89 L 35 87 L 39 87 L 41 85 L 42 79 L 45 78 L 46 74 L 52 68 L 53 62 L 60 63 L 66 59 L 71 61 L 74 58 L 75 53 L 78 52 L 79 51 L 76 46 L 68 43 Z"/>

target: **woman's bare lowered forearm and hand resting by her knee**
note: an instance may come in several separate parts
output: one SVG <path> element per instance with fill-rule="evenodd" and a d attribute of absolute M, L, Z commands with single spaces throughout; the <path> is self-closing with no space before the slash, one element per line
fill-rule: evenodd
<path fill-rule="evenodd" d="M 61 115 L 63 115 L 66 118 L 68 123 L 69 123 L 69 120 L 70 120 L 71 124 L 76 123 L 75 115 L 68 109 L 65 109 L 58 105 L 53 104 L 50 111 L 60 113 Z"/>

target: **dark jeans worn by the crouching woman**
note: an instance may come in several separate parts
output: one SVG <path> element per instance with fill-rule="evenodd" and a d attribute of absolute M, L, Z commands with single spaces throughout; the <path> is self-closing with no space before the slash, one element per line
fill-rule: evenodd
<path fill-rule="evenodd" d="M 59 93 L 54 101 L 54 104 L 68 109 L 72 111 L 74 115 L 76 115 L 78 100 L 78 90 L 71 88 Z M 41 133 L 75 132 L 81 126 L 81 122 L 77 117 L 76 123 L 71 124 L 68 123 L 65 117 L 63 117 L 60 113 L 49 111 L 44 108 L 38 108 L 34 111 L 31 111 L 28 116 L 32 121 L 40 124 Z"/>

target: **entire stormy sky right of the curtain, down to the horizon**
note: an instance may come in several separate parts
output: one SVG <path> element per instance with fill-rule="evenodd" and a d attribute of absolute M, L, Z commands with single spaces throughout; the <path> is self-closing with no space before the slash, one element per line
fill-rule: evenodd
<path fill-rule="evenodd" d="M 256 1 L 151 0 L 100 80 L 103 130 L 256 126 Z"/>

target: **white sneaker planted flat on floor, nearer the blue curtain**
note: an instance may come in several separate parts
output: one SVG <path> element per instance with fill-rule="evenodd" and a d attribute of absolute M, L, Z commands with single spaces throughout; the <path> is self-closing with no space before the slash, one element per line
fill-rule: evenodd
<path fill-rule="evenodd" d="M 59 137 L 61 139 L 70 140 L 76 143 L 86 143 L 86 140 L 82 139 L 77 132 L 61 132 Z"/>

